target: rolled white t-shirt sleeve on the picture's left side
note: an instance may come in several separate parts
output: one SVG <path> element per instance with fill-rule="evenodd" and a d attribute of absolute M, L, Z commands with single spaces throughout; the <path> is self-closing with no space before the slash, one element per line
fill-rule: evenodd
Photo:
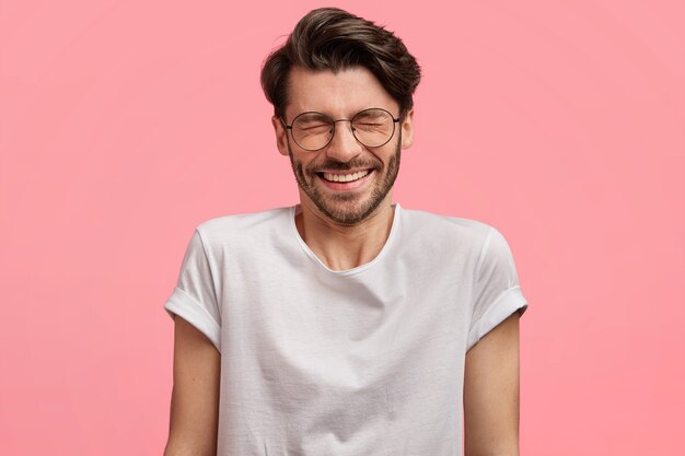
<path fill-rule="evenodd" d="M 172 318 L 178 315 L 190 323 L 221 351 L 221 313 L 207 250 L 197 229 L 183 258 L 176 288 L 164 309 Z"/>

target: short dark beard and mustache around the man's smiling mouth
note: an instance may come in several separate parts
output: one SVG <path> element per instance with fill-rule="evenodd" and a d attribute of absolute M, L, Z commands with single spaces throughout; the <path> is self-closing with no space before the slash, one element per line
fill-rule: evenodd
<path fill-rule="evenodd" d="M 290 143 L 288 143 L 288 154 L 290 155 L 290 164 L 292 172 L 298 180 L 298 186 L 310 197 L 316 208 L 328 219 L 340 225 L 355 225 L 367 219 L 385 199 L 390 190 L 392 190 L 397 174 L 399 173 L 399 159 L 402 150 L 402 131 L 399 140 L 395 148 L 395 153 L 388 159 L 387 165 L 383 166 L 383 162 L 375 159 L 373 162 L 352 160 L 347 163 L 341 162 L 324 162 L 321 164 L 312 163 L 306 169 L 301 162 L 294 159 Z M 362 196 L 356 191 L 326 192 L 320 191 L 314 184 L 320 177 L 317 169 L 325 168 L 330 171 L 349 171 L 353 168 L 369 168 L 375 174 L 373 178 L 375 183 L 371 189 L 370 196 Z"/>

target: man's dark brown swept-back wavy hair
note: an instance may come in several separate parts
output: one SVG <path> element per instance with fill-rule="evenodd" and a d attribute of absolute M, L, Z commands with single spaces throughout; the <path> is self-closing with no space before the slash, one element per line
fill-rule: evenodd
<path fill-rule="evenodd" d="M 292 67 L 339 70 L 364 67 L 399 104 L 400 117 L 414 106 L 421 69 L 404 43 L 392 32 L 338 8 L 310 11 L 295 25 L 286 44 L 269 54 L 262 67 L 262 89 L 283 117 L 288 78 Z"/>

